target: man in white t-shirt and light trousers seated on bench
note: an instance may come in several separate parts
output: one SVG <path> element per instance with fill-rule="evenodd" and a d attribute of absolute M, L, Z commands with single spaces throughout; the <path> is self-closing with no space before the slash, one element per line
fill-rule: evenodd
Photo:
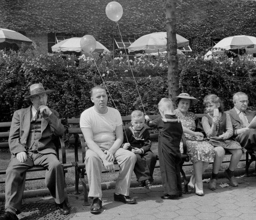
<path fill-rule="evenodd" d="M 113 161 L 120 166 L 116 180 L 114 201 L 135 203 L 129 197 L 131 175 L 136 156 L 133 152 L 120 148 L 123 143 L 122 118 L 118 110 L 107 107 L 107 92 L 103 86 L 95 86 L 90 92 L 94 106 L 85 110 L 80 117 L 80 128 L 88 149 L 85 169 L 89 181 L 88 197 L 94 198 L 91 213 L 100 213 L 102 208 L 101 171 L 102 163 L 109 172 L 114 172 Z"/>

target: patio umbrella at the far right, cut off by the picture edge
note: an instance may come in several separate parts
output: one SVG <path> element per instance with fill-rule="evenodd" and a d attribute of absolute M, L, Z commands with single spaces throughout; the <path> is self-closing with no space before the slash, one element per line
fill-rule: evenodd
<path fill-rule="evenodd" d="M 218 42 L 213 49 L 226 49 L 226 50 L 239 50 L 246 49 L 247 53 L 256 53 L 256 37 L 238 35 L 232 37 L 226 37 Z"/>

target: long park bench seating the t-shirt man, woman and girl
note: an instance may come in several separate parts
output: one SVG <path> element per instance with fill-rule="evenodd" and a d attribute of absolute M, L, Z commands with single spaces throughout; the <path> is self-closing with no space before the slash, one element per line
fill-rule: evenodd
<path fill-rule="evenodd" d="M 202 119 L 202 117 L 204 116 L 204 114 L 196 114 L 196 116 L 199 119 Z M 160 117 L 160 115 L 152 115 L 149 116 L 151 119 L 155 119 L 157 117 Z M 131 121 L 131 116 L 122 116 L 122 120 L 123 120 L 123 129 L 128 128 L 130 125 L 126 125 L 127 122 Z M 84 203 L 83 205 L 89 205 L 88 204 L 88 194 L 87 194 L 87 186 L 86 186 L 86 180 L 85 180 L 85 175 L 86 175 L 86 171 L 85 171 L 85 154 L 86 154 L 86 143 L 85 143 L 85 139 L 83 137 L 81 128 L 79 127 L 79 122 L 80 122 L 80 118 L 71 118 L 68 119 L 68 134 L 72 135 L 72 138 L 69 138 L 68 143 L 70 145 L 74 145 L 75 147 L 75 162 L 72 162 L 73 166 L 75 167 L 75 175 L 76 175 L 76 181 L 75 181 L 75 194 L 80 194 L 79 193 L 79 179 L 82 182 L 83 185 L 83 192 L 84 192 Z M 153 130 L 155 128 L 149 128 L 147 127 L 147 125 L 145 125 L 146 128 L 148 128 L 149 130 Z M 150 134 L 150 138 L 151 139 L 158 139 L 158 133 L 156 134 Z M 186 150 L 186 141 L 184 136 L 182 136 L 182 142 L 183 142 L 183 153 L 182 153 L 182 162 L 180 163 L 180 172 L 182 174 L 183 177 L 183 181 L 184 181 L 184 193 L 190 193 L 190 191 L 188 191 L 188 181 L 186 179 L 186 175 L 182 169 L 182 166 L 184 165 L 185 162 L 189 161 L 189 157 L 188 154 L 186 154 L 187 150 Z M 78 148 L 81 145 L 82 148 L 82 161 L 79 161 L 78 158 Z M 225 153 L 226 155 L 230 154 L 229 152 Z M 250 155 L 250 159 L 249 159 L 249 155 Z M 241 159 L 240 161 L 245 161 L 246 162 L 246 169 L 245 169 L 245 176 L 248 176 L 248 170 L 249 170 L 249 166 L 253 161 L 256 161 L 255 155 L 254 155 L 254 151 L 253 150 L 247 150 L 246 152 L 246 159 Z M 223 161 L 223 163 L 228 163 L 230 161 Z M 114 164 L 117 164 L 116 162 Z M 189 165 L 184 165 L 184 166 L 190 166 Z M 159 168 L 159 166 L 156 166 L 155 168 Z M 118 171 L 118 170 L 115 170 Z M 107 171 L 103 171 L 103 173 L 105 173 Z"/>

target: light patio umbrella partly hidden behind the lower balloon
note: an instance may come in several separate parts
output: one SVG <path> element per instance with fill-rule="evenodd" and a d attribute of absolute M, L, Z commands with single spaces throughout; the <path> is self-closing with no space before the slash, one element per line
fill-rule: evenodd
<path fill-rule="evenodd" d="M 62 40 L 61 42 L 55 44 L 52 46 L 52 51 L 53 52 L 65 52 L 65 51 L 76 51 L 76 52 L 81 52 L 81 46 L 80 46 L 80 40 L 81 37 L 72 37 L 68 38 L 66 40 Z M 96 49 L 94 52 L 97 53 L 110 53 L 110 51 L 100 42 L 96 41 Z"/>

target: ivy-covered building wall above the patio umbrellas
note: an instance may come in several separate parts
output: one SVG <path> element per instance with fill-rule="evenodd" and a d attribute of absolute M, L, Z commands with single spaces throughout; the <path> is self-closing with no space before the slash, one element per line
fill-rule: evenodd
<path fill-rule="evenodd" d="M 116 0 L 123 7 L 118 24 L 123 36 L 165 31 L 164 1 Z M 110 0 L 0 0 L 0 27 L 26 33 L 81 33 L 110 46 L 118 35 L 105 15 Z M 177 0 L 177 33 L 193 51 L 211 45 L 211 37 L 256 36 L 255 0 Z"/>

